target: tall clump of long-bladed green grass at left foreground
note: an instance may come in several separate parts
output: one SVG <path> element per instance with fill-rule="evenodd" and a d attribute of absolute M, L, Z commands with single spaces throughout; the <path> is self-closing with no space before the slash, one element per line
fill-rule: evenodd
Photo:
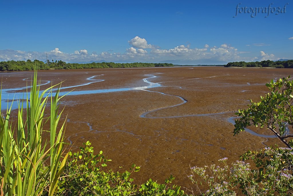
<path fill-rule="evenodd" d="M 62 97 L 59 97 L 59 90 L 52 97 L 54 86 L 41 92 L 39 85 L 35 71 L 26 100 L 18 102 L 17 122 L 11 119 L 11 107 L 7 107 L 5 114 L 1 112 L 1 195 L 41 195 L 44 191 L 49 196 L 56 194 L 68 156 L 68 153 L 63 154 L 65 121 L 60 129 L 57 128 L 62 114 L 58 102 Z M 45 117 L 48 100 L 50 115 Z M 50 122 L 49 130 L 44 130 L 46 122 Z M 44 131 L 50 134 L 48 142 L 42 137 Z"/>

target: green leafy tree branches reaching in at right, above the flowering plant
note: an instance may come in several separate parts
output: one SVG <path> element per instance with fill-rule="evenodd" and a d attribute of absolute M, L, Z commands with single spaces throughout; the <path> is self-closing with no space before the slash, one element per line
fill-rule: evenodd
<path fill-rule="evenodd" d="M 292 148 L 293 135 L 289 134 L 289 127 L 293 128 L 293 81 L 287 77 L 273 80 L 266 86 L 271 91 L 265 97 L 260 97 L 260 102 L 253 102 L 246 110 L 238 110 L 236 113 L 241 118 L 236 120 L 234 135 L 244 131 L 245 127 L 266 127 L 280 139 L 287 147 Z"/>

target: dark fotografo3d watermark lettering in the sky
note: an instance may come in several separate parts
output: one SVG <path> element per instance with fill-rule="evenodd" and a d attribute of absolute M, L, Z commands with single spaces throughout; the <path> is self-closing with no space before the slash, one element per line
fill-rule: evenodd
<path fill-rule="evenodd" d="M 251 18 L 254 18 L 257 14 L 259 13 L 262 13 L 262 14 L 266 14 L 265 18 L 267 18 L 270 13 L 271 14 L 275 14 L 275 15 L 278 15 L 280 13 L 286 13 L 286 6 L 289 4 L 285 4 L 285 6 L 283 8 L 281 7 L 273 7 L 272 4 L 274 3 L 271 3 L 268 7 L 241 7 L 241 3 L 239 3 L 237 6 L 236 6 L 236 14 L 235 16 L 233 16 L 233 18 L 235 18 L 236 16 L 238 16 L 238 14 L 240 13 L 248 13 L 250 14 Z"/>

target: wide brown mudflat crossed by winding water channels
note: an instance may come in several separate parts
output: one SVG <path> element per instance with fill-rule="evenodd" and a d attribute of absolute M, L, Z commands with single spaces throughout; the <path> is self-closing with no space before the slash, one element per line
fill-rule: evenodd
<path fill-rule="evenodd" d="M 31 71 L 2 72 L 2 88 L 25 86 L 23 79 L 32 74 Z M 86 79 L 95 75 L 100 76 L 93 79 L 105 80 L 64 91 L 147 86 L 142 79 L 149 76 L 144 74 L 158 74 L 148 80 L 161 82 L 162 86 L 146 89 L 156 92 L 132 90 L 69 95 L 63 99 L 62 103 L 67 103 L 64 116 L 68 113 L 69 119 L 65 135 L 73 142 L 73 149 L 90 140 L 97 153 L 103 150 L 113 160 L 108 164 L 110 168 L 117 170 L 123 166 L 124 171 L 132 163 L 141 166 L 141 171 L 135 174 L 137 183 L 149 178 L 162 183 L 172 174 L 175 183 L 189 187 L 192 186 L 187 178 L 190 166 L 217 163 L 223 157 L 235 161 L 243 152 L 263 148 L 264 144 L 282 146 L 277 139 L 247 132 L 234 137 L 234 126 L 227 118 L 239 108 L 247 108 L 249 99 L 258 101 L 268 91 L 265 83 L 293 75 L 293 69 L 173 67 L 38 72 L 41 80 L 53 84 L 64 81 L 62 87 L 92 82 Z M 169 107 L 183 103 L 176 96 L 187 103 Z M 147 118 L 140 117 L 158 108 L 162 109 L 147 114 Z M 223 114 L 193 116 L 212 113 Z M 255 131 L 270 134 L 266 130 Z"/>

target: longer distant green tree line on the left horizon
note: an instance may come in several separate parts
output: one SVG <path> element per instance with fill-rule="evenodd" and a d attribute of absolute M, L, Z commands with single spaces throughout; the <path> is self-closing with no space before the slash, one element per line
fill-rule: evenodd
<path fill-rule="evenodd" d="M 173 67 L 172 63 L 113 63 L 113 62 L 101 62 L 101 63 L 67 63 L 64 61 L 49 61 L 42 62 L 39 60 L 31 61 L 2 61 L 0 62 L 0 71 L 23 71 L 34 70 L 35 64 L 38 69 L 92 69 L 92 68 L 130 68 L 130 67 Z"/>

